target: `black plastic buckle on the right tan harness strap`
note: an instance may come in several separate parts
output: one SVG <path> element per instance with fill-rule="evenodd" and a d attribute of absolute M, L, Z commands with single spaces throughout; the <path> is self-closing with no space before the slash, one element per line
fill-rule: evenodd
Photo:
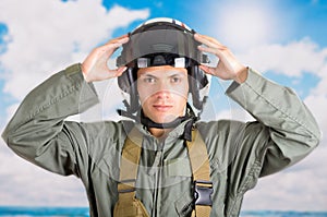
<path fill-rule="evenodd" d="M 204 180 L 194 181 L 195 205 L 211 206 L 213 182 Z"/>

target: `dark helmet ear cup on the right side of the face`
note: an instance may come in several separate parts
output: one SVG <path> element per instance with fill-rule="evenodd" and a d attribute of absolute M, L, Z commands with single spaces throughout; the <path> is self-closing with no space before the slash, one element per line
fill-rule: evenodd
<path fill-rule="evenodd" d="M 199 89 L 205 87 L 208 84 L 208 79 L 206 74 L 199 69 L 198 65 L 194 65 L 189 70 L 191 75 L 191 80 L 189 81 L 190 84 L 190 92 L 192 94 L 192 101 L 193 106 L 202 110 L 203 109 L 203 98 L 201 98 Z"/>

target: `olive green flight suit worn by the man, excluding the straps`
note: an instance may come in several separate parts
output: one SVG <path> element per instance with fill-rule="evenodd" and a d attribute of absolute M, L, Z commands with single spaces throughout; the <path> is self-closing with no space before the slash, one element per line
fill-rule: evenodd
<path fill-rule="evenodd" d="M 257 121 L 195 123 L 209 154 L 214 182 L 211 217 L 238 216 L 244 193 L 255 186 L 258 177 L 295 164 L 320 138 L 316 121 L 296 95 L 251 69 L 246 82 L 232 83 L 227 95 Z M 110 217 L 118 200 L 122 145 L 134 123 L 64 120 L 98 101 L 95 88 L 83 79 L 81 65 L 72 65 L 26 96 L 2 137 L 33 164 L 78 177 L 87 192 L 90 216 Z M 182 138 L 184 124 L 164 142 L 136 124 L 144 135 L 136 197 L 150 216 L 187 216 L 192 212 L 192 172 Z M 171 170 L 169 165 L 174 162 L 186 169 Z"/>

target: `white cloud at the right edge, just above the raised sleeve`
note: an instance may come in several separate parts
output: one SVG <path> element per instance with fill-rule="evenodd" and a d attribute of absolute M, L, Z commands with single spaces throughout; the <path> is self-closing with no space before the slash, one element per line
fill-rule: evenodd
<path fill-rule="evenodd" d="M 304 72 L 326 76 L 327 48 L 322 49 L 310 38 L 287 45 L 259 45 L 240 53 L 239 58 L 261 72 L 274 71 L 288 76 L 300 76 Z"/>

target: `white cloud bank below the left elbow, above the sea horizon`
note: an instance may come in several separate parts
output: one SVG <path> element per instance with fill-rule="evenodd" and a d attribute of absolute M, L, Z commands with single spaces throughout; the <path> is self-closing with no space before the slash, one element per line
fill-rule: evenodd
<path fill-rule="evenodd" d="M 87 206 L 83 184 L 75 177 L 60 177 L 9 152 L 0 141 L 0 204 Z"/>

